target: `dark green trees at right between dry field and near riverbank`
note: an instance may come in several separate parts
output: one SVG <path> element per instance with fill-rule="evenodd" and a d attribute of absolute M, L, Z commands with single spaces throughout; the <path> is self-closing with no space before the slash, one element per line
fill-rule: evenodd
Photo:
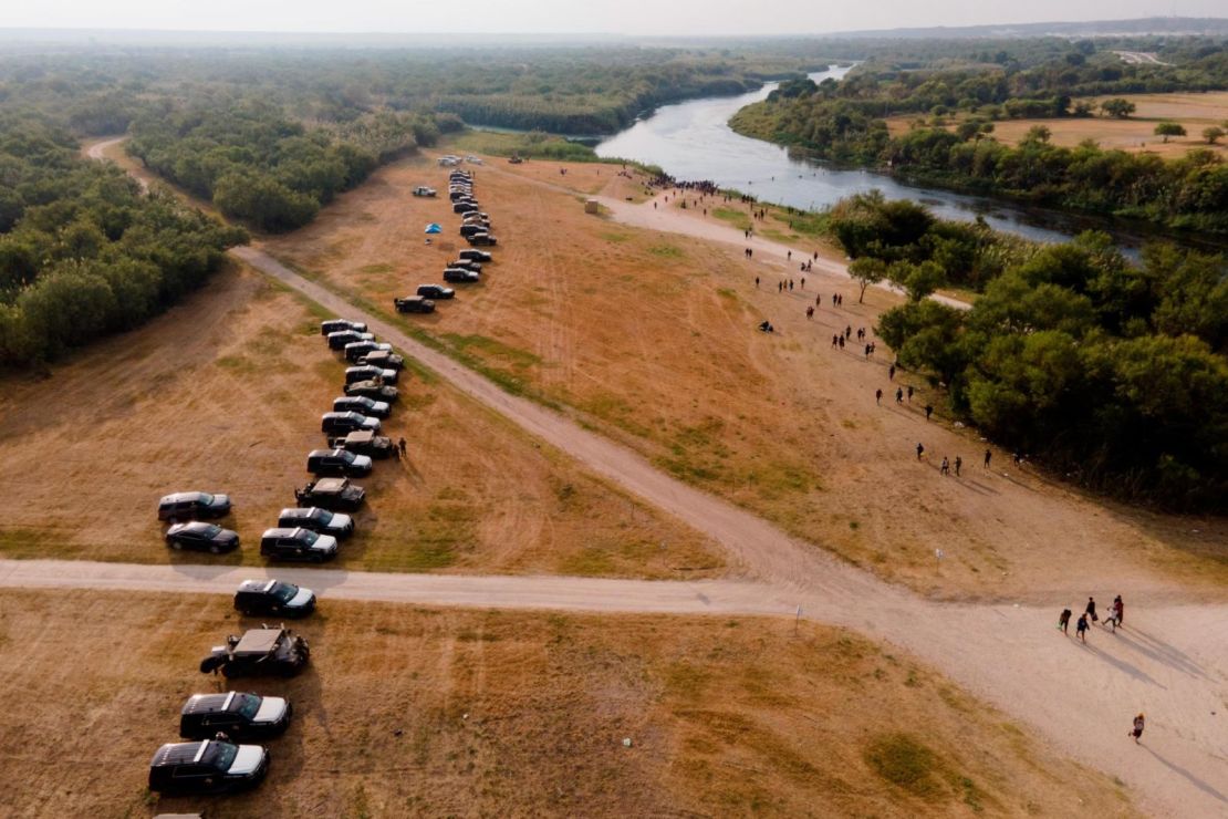
<path fill-rule="evenodd" d="M 1105 235 L 1036 246 L 874 195 L 829 223 L 855 275 L 907 291 L 878 333 L 959 417 L 1082 484 L 1228 511 L 1228 259 L 1133 265 Z M 926 298 L 952 282 L 981 291 L 971 309 Z"/>

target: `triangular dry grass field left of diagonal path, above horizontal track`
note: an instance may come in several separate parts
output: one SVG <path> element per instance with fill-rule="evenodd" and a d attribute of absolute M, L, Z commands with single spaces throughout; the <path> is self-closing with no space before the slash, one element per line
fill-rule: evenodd
<path fill-rule="evenodd" d="M 225 491 L 243 539 L 219 562 L 260 564 L 259 535 L 293 506 L 344 360 L 318 312 L 231 270 L 146 327 L 49 377 L 0 383 L 0 556 L 179 560 L 157 499 Z M 425 372 L 403 375 L 384 429 L 408 458 L 376 462 L 339 564 L 389 571 L 702 577 L 722 559 L 689 528 L 580 470 Z M 188 561 L 210 557 L 187 554 Z"/>

